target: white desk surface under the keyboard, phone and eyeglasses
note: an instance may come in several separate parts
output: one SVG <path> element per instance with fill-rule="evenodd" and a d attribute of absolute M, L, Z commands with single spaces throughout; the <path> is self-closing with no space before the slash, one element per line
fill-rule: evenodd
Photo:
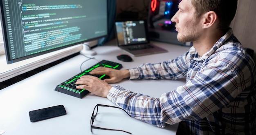
<path fill-rule="evenodd" d="M 153 43 L 167 49 L 168 53 L 132 57 L 133 62 L 121 62 L 116 56 L 125 52 L 119 49 L 114 41 L 111 41 L 104 46 L 94 48 L 97 55 L 93 56 L 95 59 L 83 64 L 83 70 L 103 59 L 119 62 L 123 65 L 123 69 L 128 69 L 145 62 L 161 62 L 176 58 L 189 49 L 186 46 Z M 119 131 L 99 129 L 93 129 L 93 133 L 90 132 L 90 118 L 94 106 L 96 104 L 114 105 L 107 98 L 90 93 L 80 99 L 54 91 L 56 85 L 80 73 L 80 65 L 87 59 L 83 55 L 77 55 L 0 90 L 0 129 L 5 131 L 3 135 L 128 135 Z M 185 80 L 124 80 L 117 84 L 135 93 L 160 97 L 162 93 L 172 91 L 184 83 Z M 30 122 L 29 111 L 59 104 L 65 106 L 66 115 Z M 122 110 L 115 108 L 99 108 L 96 120 L 95 126 L 121 129 L 133 135 L 175 135 L 177 130 L 177 124 L 158 128 L 131 118 Z"/>

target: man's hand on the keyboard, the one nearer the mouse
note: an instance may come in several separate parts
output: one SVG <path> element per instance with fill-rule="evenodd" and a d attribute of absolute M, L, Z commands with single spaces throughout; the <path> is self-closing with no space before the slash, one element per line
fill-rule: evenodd
<path fill-rule="evenodd" d="M 120 82 L 122 79 L 130 77 L 130 72 L 127 69 L 117 70 L 117 69 L 105 68 L 102 66 L 92 70 L 90 72 L 90 74 L 94 74 L 94 75 L 106 74 L 106 75 L 108 75 L 110 78 L 104 80 L 107 83 Z"/>

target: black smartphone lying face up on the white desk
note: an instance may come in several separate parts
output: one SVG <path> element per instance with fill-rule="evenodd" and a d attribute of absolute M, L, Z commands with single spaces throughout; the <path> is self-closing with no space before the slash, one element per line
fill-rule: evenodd
<path fill-rule="evenodd" d="M 42 108 L 34 111 L 29 111 L 29 118 L 31 122 L 37 122 L 40 120 L 49 119 L 52 117 L 57 117 L 65 115 L 66 110 L 63 105 L 52 106 L 47 108 Z"/>

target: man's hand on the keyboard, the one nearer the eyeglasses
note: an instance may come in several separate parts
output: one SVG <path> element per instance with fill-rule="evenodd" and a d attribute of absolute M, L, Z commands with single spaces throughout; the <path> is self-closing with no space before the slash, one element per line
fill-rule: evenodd
<path fill-rule="evenodd" d="M 107 82 L 100 80 L 98 77 L 92 75 L 81 76 L 79 80 L 76 81 L 77 89 L 86 89 L 90 93 L 101 97 L 107 97 L 108 91 L 112 88 Z"/>

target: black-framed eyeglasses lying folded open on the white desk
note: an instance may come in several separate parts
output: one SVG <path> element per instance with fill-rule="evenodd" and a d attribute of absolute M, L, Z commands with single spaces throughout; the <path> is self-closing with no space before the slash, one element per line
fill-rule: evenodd
<path fill-rule="evenodd" d="M 116 107 L 116 106 L 108 106 L 108 105 L 103 105 L 103 104 L 97 104 L 94 109 L 93 109 L 93 113 L 92 113 L 92 117 L 91 117 L 91 132 L 92 132 L 92 129 L 102 129 L 102 130 L 110 130 L 110 131 L 122 131 L 122 132 L 125 132 L 125 133 L 128 133 L 128 134 L 132 134 L 130 132 L 127 132 L 127 131 L 123 131 L 123 130 L 118 130 L 118 129 L 110 129 L 110 128 L 101 128 L 101 127 L 98 127 L 98 126 L 92 126 L 94 120 L 95 120 L 95 117 L 97 116 L 98 114 L 98 107 L 99 106 L 103 106 L 103 107 L 112 107 L 112 108 L 119 108 L 119 107 Z M 95 108 L 97 108 L 96 110 L 96 113 L 95 112 Z M 124 110 L 123 108 L 119 108 L 121 110 Z M 124 110 L 125 111 L 125 110 Z M 126 111 L 125 111 L 126 112 Z M 127 113 L 127 112 L 126 112 Z M 128 113 L 127 113 L 128 114 Z M 129 115 L 129 114 L 128 114 Z M 132 117 L 131 115 L 129 115 L 130 117 Z"/>

